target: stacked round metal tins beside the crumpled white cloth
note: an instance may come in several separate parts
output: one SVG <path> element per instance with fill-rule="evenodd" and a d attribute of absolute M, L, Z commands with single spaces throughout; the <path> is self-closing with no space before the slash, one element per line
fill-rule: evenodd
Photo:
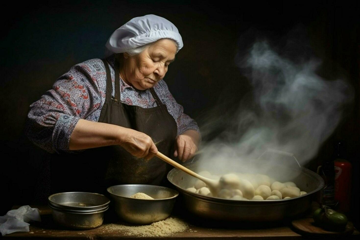
<path fill-rule="evenodd" d="M 109 199 L 97 193 L 69 192 L 49 196 L 54 222 L 67 228 L 91 229 L 103 224 Z"/>

